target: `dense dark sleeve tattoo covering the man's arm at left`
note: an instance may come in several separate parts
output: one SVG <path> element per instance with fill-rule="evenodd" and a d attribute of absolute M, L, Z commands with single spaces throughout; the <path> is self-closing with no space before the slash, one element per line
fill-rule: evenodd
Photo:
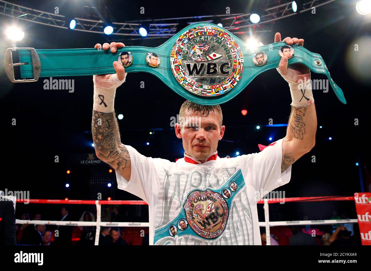
<path fill-rule="evenodd" d="M 93 110 L 92 135 L 96 154 L 112 168 L 122 171 L 130 165 L 129 152 L 121 145 L 115 112 Z"/>

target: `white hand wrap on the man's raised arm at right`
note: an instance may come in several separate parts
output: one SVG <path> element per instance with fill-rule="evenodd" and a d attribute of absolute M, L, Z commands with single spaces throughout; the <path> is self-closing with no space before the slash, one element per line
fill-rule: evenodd
<path fill-rule="evenodd" d="M 276 70 L 289 83 L 292 106 L 305 107 L 314 103 L 310 71 L 307 74 L 297 74 L 295 70 L 288 68 L 288 73 L 283 75 L 279 68 Z"/>

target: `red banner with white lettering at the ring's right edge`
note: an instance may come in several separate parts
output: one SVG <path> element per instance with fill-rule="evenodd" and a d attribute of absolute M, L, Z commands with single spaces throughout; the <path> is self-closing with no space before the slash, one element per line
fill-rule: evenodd
<path fill-rule="evenodd" d="M 371 245 L 371 193 L 354 194 L 362 245 Z"/>

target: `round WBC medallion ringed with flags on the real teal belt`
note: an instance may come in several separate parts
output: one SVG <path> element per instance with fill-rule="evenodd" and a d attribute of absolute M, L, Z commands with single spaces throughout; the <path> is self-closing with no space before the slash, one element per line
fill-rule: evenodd
<path fill-rule="evenodd" d="M 218 96 L 231 91 L 243 72 L 237 42 L 223 29 L 198 26 L 179 36 L 170 54 L 178 83 L 193 94 Z"/>

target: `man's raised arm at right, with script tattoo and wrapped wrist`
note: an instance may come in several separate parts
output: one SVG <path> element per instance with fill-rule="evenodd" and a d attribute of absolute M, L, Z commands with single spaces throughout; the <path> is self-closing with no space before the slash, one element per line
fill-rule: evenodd
<path fill-rule="evenodd" d="M 279 41 L 281 35 L 276 33 L 275 42 Z M 304 45 L 304 40 L 298 38 L 288 37 L 283 41 L 288 45 L 293 43 Z M 292 97 L 288 128 L 282 142 L 281 172 L 283 172 L 314 147 L 317 116 L 310 83 L 310 70 L 302 64 L 288 66 L 287 57 L 281 58 L 277 70 L 289 83 Z"/>

